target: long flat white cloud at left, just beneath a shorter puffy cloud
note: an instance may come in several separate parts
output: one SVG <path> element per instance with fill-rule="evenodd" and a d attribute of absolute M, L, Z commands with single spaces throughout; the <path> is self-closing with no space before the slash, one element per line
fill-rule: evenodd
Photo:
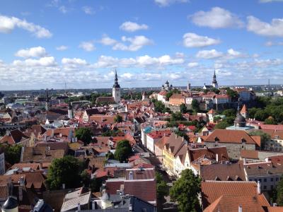
<path fill-rule="evenodd" d="M 54 57 L 42 57 L 40 59 L 25 59 L 13 61 L 14 66 L 56 66 Z"/>

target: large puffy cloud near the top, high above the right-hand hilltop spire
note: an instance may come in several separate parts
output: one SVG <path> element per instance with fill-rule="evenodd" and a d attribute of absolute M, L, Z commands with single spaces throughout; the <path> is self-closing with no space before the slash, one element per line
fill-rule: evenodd
<path fill-rule="evenodd" d="M 243 27 L 243 21 L 238 16 L 220 7 L 214 7 L 211 11 L 198 11 L 189 18 L 192 23 L 209 28 Z"/>

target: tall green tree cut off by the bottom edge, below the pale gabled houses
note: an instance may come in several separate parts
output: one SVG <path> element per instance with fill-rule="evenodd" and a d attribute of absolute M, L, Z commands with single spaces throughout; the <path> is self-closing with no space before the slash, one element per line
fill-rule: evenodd
<path fill-rule="evenodd" d="M 186 169 L 181 172 L 181 177 L 170 189 L 172 201 L 178 201 L 179 211 L 199 211 L 200 204 L 198 195 L 200 194 L 201 179 L 195 176 L 192 170 Z"/>

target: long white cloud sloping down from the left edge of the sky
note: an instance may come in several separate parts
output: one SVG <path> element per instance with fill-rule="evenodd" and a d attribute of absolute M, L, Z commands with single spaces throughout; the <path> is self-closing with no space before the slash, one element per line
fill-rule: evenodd
<path fill-rule="evenodd" d="M 38 38 L 52 37 L 52 33 L 40 25 L 16 17 L 0 16 L 0 33 L 11 33 L 15 28 L 27 30 Z"/>

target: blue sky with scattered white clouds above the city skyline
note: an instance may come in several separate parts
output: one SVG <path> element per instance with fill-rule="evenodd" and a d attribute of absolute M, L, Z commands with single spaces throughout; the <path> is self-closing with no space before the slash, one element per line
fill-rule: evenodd
<path fill-rule="evenodd" d="M 0 1 L 0 90 L 283 82 L 283 0 Z"/>

